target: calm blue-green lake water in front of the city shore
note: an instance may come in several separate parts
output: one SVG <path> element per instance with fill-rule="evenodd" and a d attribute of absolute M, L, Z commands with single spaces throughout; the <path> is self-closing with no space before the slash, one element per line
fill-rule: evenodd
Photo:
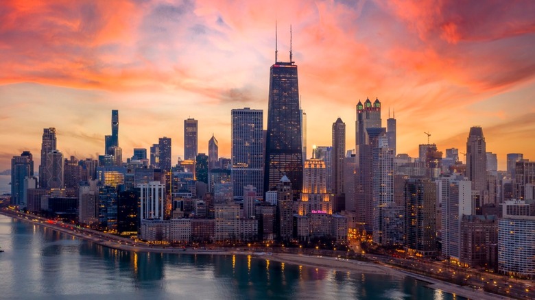
<path fill-rule="evenodd" d="M 118 251 L 2 215 L 0 245 L 0 299 L 453 299 L 409 277 Z"/>

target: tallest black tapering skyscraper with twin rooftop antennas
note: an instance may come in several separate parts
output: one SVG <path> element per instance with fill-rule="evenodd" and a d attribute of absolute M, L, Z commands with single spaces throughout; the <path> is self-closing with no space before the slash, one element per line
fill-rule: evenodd
<path fill-rule="evenodd" d="M 292 49 L 290 49 L 289 62 L 278 62 L 275 55 L 275 64 L 270 68 L 264 192 L 274 190 L 284 175 L 292 182 L 294 195 L 301 192 L 303 168 L 301 134 L 297 66 L 292 61 Z"/>

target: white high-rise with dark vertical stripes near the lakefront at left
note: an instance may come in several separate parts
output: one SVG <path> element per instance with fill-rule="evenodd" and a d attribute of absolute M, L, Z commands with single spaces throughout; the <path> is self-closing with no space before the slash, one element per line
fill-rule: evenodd
<path fill-rule="evenodd" d="M 165 202 L 165 184 L 149 182 L 140 184 L 141 220 L 163 220 Z"/>

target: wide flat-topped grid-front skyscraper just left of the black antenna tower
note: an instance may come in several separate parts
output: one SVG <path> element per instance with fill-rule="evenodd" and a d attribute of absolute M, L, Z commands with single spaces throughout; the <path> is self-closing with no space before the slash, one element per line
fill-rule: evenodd
<path fill-rule="evenodd" d="M 244 186 L 263 190 L 263 112 L 250 108 L 236 109 L 232 114 L 230 173 L 235 197 L 243 196 Z"/>

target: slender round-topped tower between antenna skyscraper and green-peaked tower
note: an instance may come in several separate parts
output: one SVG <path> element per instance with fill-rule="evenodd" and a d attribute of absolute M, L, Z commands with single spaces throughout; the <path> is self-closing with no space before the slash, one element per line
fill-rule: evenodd
<path fill-rule="evenodd" d="M 344 158 L 346 158 L 346 123 L 337 118 L 333 123 L 332 179 L 333 194 L 344 192 Z"/>

